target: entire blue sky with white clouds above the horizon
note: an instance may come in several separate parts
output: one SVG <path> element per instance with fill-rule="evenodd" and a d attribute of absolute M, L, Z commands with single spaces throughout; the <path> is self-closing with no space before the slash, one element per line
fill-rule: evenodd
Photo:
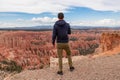
<path fill-rule="evenodd" d="M 0 0 L 0 28 L 54 25 L 120 27 L 120 0 Z"/>

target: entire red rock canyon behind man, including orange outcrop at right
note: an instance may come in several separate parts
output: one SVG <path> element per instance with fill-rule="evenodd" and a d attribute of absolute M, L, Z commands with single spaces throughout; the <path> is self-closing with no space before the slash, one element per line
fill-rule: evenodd
<path fill-rule="evenodd" d="M 12 61 L 21 70 L 49 67 L 50 57 L 57 58 L 51 37 L 52 31 L 0 31 L 0 69 Z M 119 43 L 119 31 L 115 30 L 72 30 L 69 35 L 72 56 L 102 54 Z M 63 57 L 67 57 L 65 52 Z"/>

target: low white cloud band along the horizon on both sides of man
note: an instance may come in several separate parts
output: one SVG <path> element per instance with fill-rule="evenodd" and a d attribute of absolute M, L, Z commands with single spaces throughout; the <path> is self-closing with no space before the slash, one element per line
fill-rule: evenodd
<path fill-rule="evenodd" d="M 50 17 L 37 17 L 30 20 L 17 19 L 16 22 L 0 22 L 0 28 L 10 27 L 31 27 L 31 26 L 45 26 L 53 25 L 56 18 Z M 70 22 L 71 26 L 120 26 L 120 21 L 114 19 L 102 19 L 97 21 L 81 21 L 81 22 Z"/>

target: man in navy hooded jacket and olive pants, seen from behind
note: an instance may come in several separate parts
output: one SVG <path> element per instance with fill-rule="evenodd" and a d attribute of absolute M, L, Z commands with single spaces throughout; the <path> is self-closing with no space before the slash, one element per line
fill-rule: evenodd
<path fill-rule="evenodd" d="M 70 25 L 65 22 L 64 14 L 58 13 L 58 21 L 54 24 L 53 28 L 53 35 L 52 35 L 52 44 L 55 47 L 55 40 L 57 39 L 57 53 L 58 53 L 58 61 L 59 61 L 59 71 L 57 74 L 63 75 L 62 71 L 62 51 L 65 50 L 68 57 L 68 63 L 69 63 L 69 69 L 70 71 L 74 70 L 74 67 L 72 65 L 72 59 L 71 59 L 71 51 L 68 45 L 68 34 L 71 34 Z"/>

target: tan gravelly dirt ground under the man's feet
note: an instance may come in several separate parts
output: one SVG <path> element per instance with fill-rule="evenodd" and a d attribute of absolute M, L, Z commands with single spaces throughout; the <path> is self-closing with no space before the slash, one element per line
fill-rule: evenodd
<path fill-rule="evenodd" d="M 64 75 L 57 75 L 57 69 L 26 70 L 4 80 L 120 80 L 120 54 L 85 58 L 73 62 L 75 70 L 63 68 Z"/>

